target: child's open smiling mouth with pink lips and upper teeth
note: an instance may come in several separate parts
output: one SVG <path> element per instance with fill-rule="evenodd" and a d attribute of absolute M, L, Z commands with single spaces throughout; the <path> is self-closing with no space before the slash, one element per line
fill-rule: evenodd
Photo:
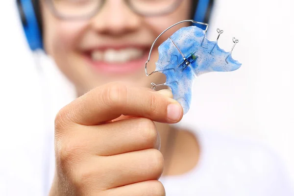
<path fill-rule="evenodd" d="M 86 52 L 87 61 L 102 73 L 144 73 L 149 48 L 124 47 L 92 49 Z"/>

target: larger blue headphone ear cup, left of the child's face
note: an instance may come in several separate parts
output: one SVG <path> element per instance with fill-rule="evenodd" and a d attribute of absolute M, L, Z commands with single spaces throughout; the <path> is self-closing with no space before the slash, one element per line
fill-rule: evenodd
<path fill-rule="evenodd" d="M 43 49 L 42 34 L 32 1 L 17 0 L 17 6 L 29 48 L 32 51 Z"/>

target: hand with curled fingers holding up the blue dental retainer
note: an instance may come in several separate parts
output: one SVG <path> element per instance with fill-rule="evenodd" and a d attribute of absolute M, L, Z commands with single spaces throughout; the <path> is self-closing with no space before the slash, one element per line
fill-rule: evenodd
<path fill-rule="evenodd" d="M 117 82 L 75 99 L 55 119 L 50 195 L 164 196 L 158 181 L 164 160 L 153 121 L 177 123 L 182 116 L 172 98 Z"/>

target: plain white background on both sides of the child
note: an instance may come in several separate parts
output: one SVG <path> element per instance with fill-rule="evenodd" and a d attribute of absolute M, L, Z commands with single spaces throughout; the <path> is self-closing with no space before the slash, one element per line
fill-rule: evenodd
<path fill-rule="evenodd" d="M 240 42 L 233 58 L 243 65 L 232 73 L 197 78 L 192 108 L 181 124 L 268 145 L 284 161 L 294 185 L 293 8 L 293 0 L 216 1 L 208 38 L 216 39 L 215 29 L 223 29 L 219 45 L 228 51 L 236 36 Z M 44 58 L 42 63 L 53 65 Z M 7 138 L 15 129 L 24 130 L 15 135 L 14 142 L 20 142 L 26 127 L 38 134 L 44 126 L 37 74 L 14 0 L 0 1 L 0 147 L 13 147 Z"/>

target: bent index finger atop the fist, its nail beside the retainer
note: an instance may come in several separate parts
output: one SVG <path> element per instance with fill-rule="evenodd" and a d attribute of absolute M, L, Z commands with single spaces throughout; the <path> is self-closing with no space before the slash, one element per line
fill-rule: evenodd
<path fill-rule="evenodd" d="M 100 86 L 60 110 L 67 123 L 95 125 L 121 115 L 145 117 L 161 123 L 177 123 L 183 117 L 181 105 L 146 88 L 114 82 Z"/>

